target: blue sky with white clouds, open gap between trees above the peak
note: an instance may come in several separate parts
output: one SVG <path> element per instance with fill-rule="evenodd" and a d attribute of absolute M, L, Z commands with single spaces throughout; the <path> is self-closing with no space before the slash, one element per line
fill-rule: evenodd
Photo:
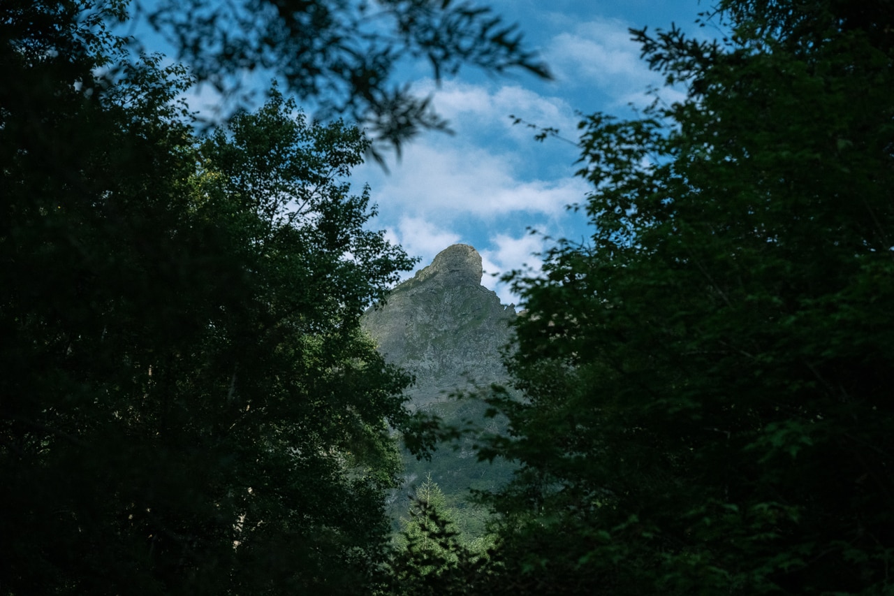
<path fill-rule="evenodd" d="M 710 0 L 479 2 L 519 24 L 527 47 L 549 65 L 554 80 L 522 72 L 497 77 L 469 68 L 436 86 L 426 64 L 408 64 L 395 79 L 431 94 L 455 134 L 417 137 L 400 161 L 390 159 L 390 173 L 370 163 L 355 170 L 353 183 L 358 189 L 370 184 L 379 209 L 372 226 L 420 257 L 418 267 L 452 243 L 471 244 L 484 261 L 483 283 L 502 302 L 519 302 L 497 276 L 526 264 L 536 269 L 532 253 L 544 248 L 541 234 L 578 240 L 588 234 L 584 216 L 565 209 L 584 200 L 588 188 L 574 176 L 574 142 L 537 142 L 535 132 L 512 125 L 510 115 L 559 129 L 576 141 L 580 114 L 629 116 L 629 106 L 651 101 L 646 89 L 662 87 L 662 77 L 640 60 L 629 28 L 669 29 L 676 23 L 698 36 L 716 32 L 695 24 Z M 206 87 L 190 105 L 203 109 L 210 97 Z M 674 90 L 662 90 L 665 100 L 676 97 Z M 541 234 L 528 234 L 529 228 Z"/>

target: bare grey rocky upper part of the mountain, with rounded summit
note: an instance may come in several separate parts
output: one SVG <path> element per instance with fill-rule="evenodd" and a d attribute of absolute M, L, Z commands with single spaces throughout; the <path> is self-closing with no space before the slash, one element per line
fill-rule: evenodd
<path fill-rule="evenodd" d="M 385 358 L 416 375 L 409 389 L 414 406 L 506 380 L 500 352 L 510 341 L 515 309 L 503 306 L 481 278 L 481 255 L 454 244 L 364 315 L 364 328 Z"/>

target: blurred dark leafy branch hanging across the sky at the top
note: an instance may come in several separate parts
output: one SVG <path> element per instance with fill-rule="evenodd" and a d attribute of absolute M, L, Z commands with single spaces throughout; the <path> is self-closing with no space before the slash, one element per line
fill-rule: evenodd
<path fill-rule="evenodd" d="M 244 90 L 245 73 L 271 72 L 302 101 L 318 106 L 318 117 L 348 115 L 398 151 L 421 130 L 446 128 L 428 98 L 392 80 L 401 63 L 426 60 L 435 81 L 463 65 L 549 77 L 515 26 L 471 2 L 164 0 L 138 3 L 137 13 L 144 12 L 198 80 L 225 97 Z"/>

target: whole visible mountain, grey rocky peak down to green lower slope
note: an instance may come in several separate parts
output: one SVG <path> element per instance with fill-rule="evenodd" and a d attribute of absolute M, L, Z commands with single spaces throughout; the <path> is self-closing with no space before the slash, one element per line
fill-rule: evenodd
<path fill-rule="evenodd" d="M 502 304 L 481 285 L 482 276 L 481 255 L 467 244 L 454 244 L 362 319 L 385 360 L 415 377 L 405 391 L 409 408 L 437 415 L 447 425 L 475 428 L 457 444 L 440 447 L 431 460 L 405 451 L 405 485 L 391 510 L 402 515 L 407 494 L 430 478 L 470 538 L 483 531 L 483 511 L 471 507 L 468 490 L 496 489 L 512 470 L 505 462 L 478 462 L 473 448 L 482 434 L 504 426 L 485 418 L 486 404 L 479 396 L 494 383 L 509 383 L 502 353 L 516 317 L 514 306 Z"/>

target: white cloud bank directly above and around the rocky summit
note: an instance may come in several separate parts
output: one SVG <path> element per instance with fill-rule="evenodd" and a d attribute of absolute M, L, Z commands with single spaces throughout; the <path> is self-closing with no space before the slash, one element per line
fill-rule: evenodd
<path fill-rule="evenodd" d="M 535 132 L 513 126 L 509 115 L 567 133 L 576 130 L 578 115 L 560 98 L 516 85 L 448 81 L 434 89 L 423 81 L 418 90 L 434 93 L 435 109 L 456 134 L 413 140 L 401 162 L 389 165 L 389 175 L 375 165 L 358 169 L 355 180 L 370 183 L 379 207 L 373 225 L 421 257 L 417 268 L 453 243 L 475 246 L 485 269 L 482 283 L 502 302 L 518 303 L 498 277 L 525 264 L 539 269 L 532 253 L 544 241 L 526 234 L 527 226 L 553 237 L 571 234 L 566 228 L 574 218 L 564 208 L 584 200 L 588 185 L 574 176 L 578 149 L 536 143 Z"/>

